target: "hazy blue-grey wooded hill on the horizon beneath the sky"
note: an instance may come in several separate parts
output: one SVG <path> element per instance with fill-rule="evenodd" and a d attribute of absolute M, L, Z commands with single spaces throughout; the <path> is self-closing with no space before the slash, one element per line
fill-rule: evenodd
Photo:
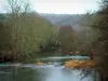
<path fill-rule="evenodd" d="M 84 14 L 39 14 L 41 17 L 50 21 L 56 26 L 70 25 L 77 31 L 81 30 L 81 23 Z"/>

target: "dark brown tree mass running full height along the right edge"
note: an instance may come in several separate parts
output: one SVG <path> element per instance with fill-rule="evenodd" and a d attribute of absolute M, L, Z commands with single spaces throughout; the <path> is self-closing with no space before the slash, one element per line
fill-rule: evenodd
<path fill-rule="evenodd" d="M 108 1 L 103 0 L 100 10 L 96 13 L 97 18 L 92 27 L 99 30 L 98 38 L 92 43 L 96 69 L 100 75 L 100 81 L 108 81 Z"/>

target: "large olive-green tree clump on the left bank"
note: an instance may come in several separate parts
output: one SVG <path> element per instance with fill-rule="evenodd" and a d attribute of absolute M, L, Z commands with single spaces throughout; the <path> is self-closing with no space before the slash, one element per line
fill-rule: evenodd
<path fill-rule="evenodd" d="M 24 11 L 22 6 L 15 4 L 17 0 L 9 2 L 12 11 L 0 24 L 0 52 L 1 54 L 5 52 L 5 57 L 13 60 L 24 60 L 37 54 L 41 43 L 45 43 L 53 36 L 56 37 L 57 28 L 37 13 L 28 12 L 26 4 Z"/>

